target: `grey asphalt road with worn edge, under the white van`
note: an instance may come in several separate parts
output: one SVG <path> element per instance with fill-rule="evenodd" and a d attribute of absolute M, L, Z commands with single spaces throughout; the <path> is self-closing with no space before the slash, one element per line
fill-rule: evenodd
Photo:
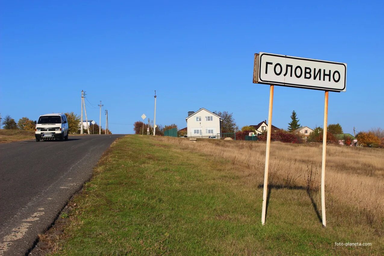
<path fill-rule="evenodd" d="M 25 255 L 121 136 L 0 144 L 0 256 Z"/>

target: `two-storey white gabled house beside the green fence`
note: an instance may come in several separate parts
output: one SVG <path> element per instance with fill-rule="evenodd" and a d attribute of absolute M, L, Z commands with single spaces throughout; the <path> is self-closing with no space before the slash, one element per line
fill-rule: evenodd
<path fill-rule="evenodd" d="M 195 138 L 208 138 L 216 136 L 220 139 L 221 134 L 221 117 L 201 108 L 198 111 L 189 111 L 187 121 L 187 136 Z"/>

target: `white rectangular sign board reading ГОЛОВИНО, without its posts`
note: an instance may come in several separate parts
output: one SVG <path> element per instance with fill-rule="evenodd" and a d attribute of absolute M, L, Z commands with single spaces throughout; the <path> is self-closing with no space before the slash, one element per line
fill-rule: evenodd
<path fill-rule="evenodd" d="M 346 63 L 255 54 L 253 83 L 345 92 L 346 78 Z"/>

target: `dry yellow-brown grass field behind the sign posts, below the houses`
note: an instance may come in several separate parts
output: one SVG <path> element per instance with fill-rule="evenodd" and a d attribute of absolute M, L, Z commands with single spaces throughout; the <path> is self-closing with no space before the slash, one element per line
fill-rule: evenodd
<path fill-rule="evenodd" d="M 156 137 L 215 158 L 230 160 L 250 186 L 262 186 L 265 163 L 265 142 L 224 141 Z M 306 189 L 320 204 L 321 144 L 287 144 L 272 142 L 269 185 L 274 188 Z M 312 170 L 312 175 L 311 175 Z M 327 146 L 326 209 L 338 216 L 334 221 L 355 221 L 369 224 L 381 234 L 384 216 L 384 150 Z M 310 183 L 310 184 L 309 184 Z M 294 200 L 294 199 L 293 199 Z M 346 218 L 348 216 L 348 218 Z"/>

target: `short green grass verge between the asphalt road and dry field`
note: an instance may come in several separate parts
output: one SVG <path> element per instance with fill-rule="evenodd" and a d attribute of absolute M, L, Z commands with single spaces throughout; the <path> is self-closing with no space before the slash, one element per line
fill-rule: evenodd
<path fill-rule="evenodd" d="M 236 168 L 152 136 L 119 139 L 74 198 L 55 255 L 379 255 L 384 249 L 368 226 L 343 221 L 321 228 L 305 190 L 272 189 L 262 226 L 262 188 L 247 185 Z"/>

